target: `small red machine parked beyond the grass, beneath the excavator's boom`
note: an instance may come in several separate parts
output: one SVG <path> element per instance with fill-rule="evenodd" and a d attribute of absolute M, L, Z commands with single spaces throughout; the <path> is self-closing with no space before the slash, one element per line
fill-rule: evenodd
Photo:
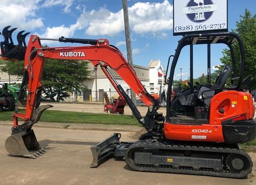
<path fill-rule="evenodd" d="M 103 93 L 103 96 L 105 98 L 106 104 L 104 104 L 104 111 L 107 113 L 119 113 L 123 114 L 124 113 L 124 106 L 126 105 L 126 101 L 123 100 L 120 96 L 113 101 L 109 100 L 107 92 Z"/>

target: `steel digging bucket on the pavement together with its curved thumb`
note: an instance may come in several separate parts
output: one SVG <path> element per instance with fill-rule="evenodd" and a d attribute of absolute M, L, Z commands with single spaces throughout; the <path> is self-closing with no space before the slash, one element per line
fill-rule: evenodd
<path fill-rule="evenodd" d="M 51 108 L 52 105 L 42 105 L 38 107 L 32 121 L 27 121 L 18 127 L 12 127 L 11 136 L 5 140 L 5 149 L 9 154 L 15 156 L 23 156 L 36 158 L 45 153 L 45 150 L 40 147 L 37 142 L 32 125 L 40 120 L 44 110 Z"/>

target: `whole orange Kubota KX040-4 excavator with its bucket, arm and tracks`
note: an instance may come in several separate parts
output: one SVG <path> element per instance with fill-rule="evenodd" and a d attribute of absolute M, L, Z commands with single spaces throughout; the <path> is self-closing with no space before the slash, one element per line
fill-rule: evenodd
<path fill-rule="evenodd" d="M 9 28 L 9 27 L 8 27 Z M 137 171 L 209 175 L 242 178 L 252 171 L 252 160 L 238 143 L 253 140 L 256 134 L 254 104 L 246 91 L 250 77 L 244 79 L 245 55 L 241 39 L 232 32 L 215 32 L 186 35 L 180 39 L 170 66 L 167 90 L 166 116 L 158 113 L 159 100 L 150 95 L 137 78 L 134 70 L 119 49 L 110 45 L 107 39 L 57 39 L 40 38 L 31 35 L 28 46 L 24 35 L 19 34 L 15 45 L 11 39 L 12 30 L 4 29 L 5 40 L 1 42 L 4 60 L 24 60 L 24 76 L 19 99 L 27 88 L 25 114 L 13 114 L 11 136 L 6 139 L 5 148 L 11 155 L 36 158 L 45 153 L 36 140 L 32 126 L 40 120 L 43 111 L 51 105 L 40 106 L 43 84 L 41 76 L 45 58 L 62 60 L 87 60 L 100 66 L 104 74 L 132 109 L 139 123 L 146 128 L 139 141 L 120 142 L 121 134 L 113 134 L 91 147 L 93 163 L 97 167 L 109 157 L 125 158 L 128 166 Z M 42 47 L 42 40 L 89 44 L 81 47 Z M 235 60 L 233 43 L 240 48 L 240 60 Z M 232 66 L 226 65 L 211 84 L 211 44 L 226 44 L 231 50 Z M 193 85 L 193 45 L 207 45 L 207 84 Z M 174 70 L 183 47 L 190 46 L 191 81 L 189 88 L 175 90 L 171 100 Z M 129 96 L 117 83 L 109 68 L 130 86 L 147 105 L 146 116 L 142 117 Z M 231 87 L 225 87 L 231 79 Z M 18 103 L 17 103 L 18 104 Z M 22 119 L 21 124 L 18 118 Z"/>

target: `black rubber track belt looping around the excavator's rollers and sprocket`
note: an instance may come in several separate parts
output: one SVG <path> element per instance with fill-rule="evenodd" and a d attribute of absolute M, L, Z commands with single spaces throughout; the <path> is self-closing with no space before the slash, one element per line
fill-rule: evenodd
<path fill-rule="evenodd" d="M 220 170 L 214 171 L 211 168 L 203 168 L 199 170 L 194 170 L 192 167 L 180 167 L 179 169 L 174 169 L 172 166 L 163 166 L 154 168 L 152 165 L 145 164 L 134 164 L 133 161 L 128 157 L 129 150 L 134 148 L 145 148 L 147 149 L 164 149 L 164 150 L 190 150 L 190 151 L 204 151 L 209 153 L 220 153 L 223 155 L 230 154 L 238 154 L 245 156 L 247 160 L 250 162 L 250 167 L 247 170 L 243 170 L 237 173 L 232 173 L 230 170 Z M 168 142 L 152 142 L 152 141 L 138 141 L 132 144 L 126 153 L 126 162 L 130 168 L 137 171 L 150 171 L 150 172 L 161 172 L 161 173 L 175 173 L 175 174 L 189 174 L 189 175 L 206 175 L 206 176 L 217 176 L 217 177 L 229 177 L 235 179 L 241 179 L 246 177 L 252 171 L 252 160 L 251 157 L 246 154 L 244 151 L 235 149 L 235 148 L 221 148 L 221 147 L 202 147 L 202 146 L 193 146 L 193 145 L 177 145 L 177 144 L 169 144 Z"/>

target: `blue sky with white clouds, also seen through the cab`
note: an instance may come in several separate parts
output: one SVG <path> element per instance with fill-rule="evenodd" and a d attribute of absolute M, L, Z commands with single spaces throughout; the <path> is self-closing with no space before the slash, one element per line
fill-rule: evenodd
<path fill-rule="evenodd" d="M 182 36 L 173 36 L 172 0 L 128 0 L 133 63 L 147 67 L 151 60 L 160 60 L 166 69 L 169 55 L 175 54 Z M 228 0 L 228 30 L 244 15 L 245 9 L 256 14 L 255 0 Z M 6 25 L 26 30 L 40 37 L 107 38 L 127 57 L 122 0 L 1 0 L 0 30 Z M 2 41 L 3 38 L 0 39 Z M 79 44 L 42 42 L 49 47 Z M 212 67 L 220 63 L 225 45 L 212 47 Z M 189 77 L 188 47 L 181 52 L 174 79 Z M 207 48 L 194 47 L 194 77 L 207 74 Z"/>

